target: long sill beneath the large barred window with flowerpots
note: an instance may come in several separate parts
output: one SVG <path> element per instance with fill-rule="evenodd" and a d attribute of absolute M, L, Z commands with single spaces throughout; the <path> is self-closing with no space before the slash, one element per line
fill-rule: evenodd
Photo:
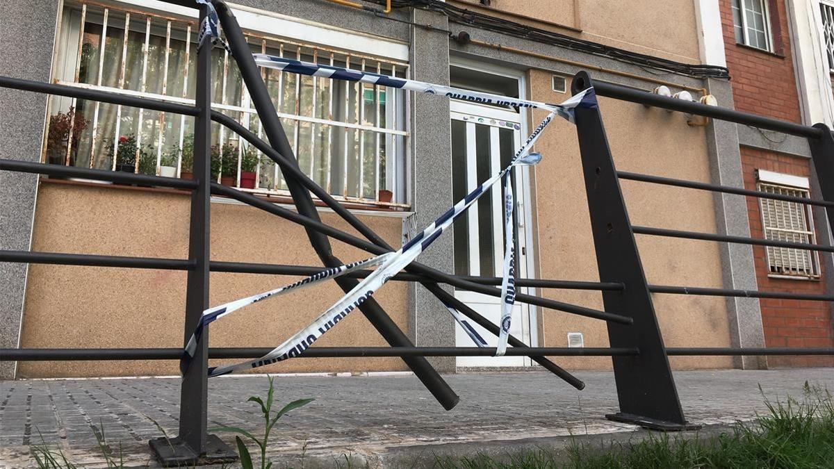
<path fill-rule="evenodd" d="M 182 194 L 188 195 L 191 194 L 188 190 L 182 189 L 169 189 L 163 187 L 146 187 L 146 186 L 136 186 L 136 185 L 127 185 L 127 184 L 111 184 L 108 182 L 101 182 L 101 181 L 94 181 L 91 179 L 59 179 L 59 178 L 49 178 L 46 176 L 40 177 L 41 183 L 47 184 L 65 184 L 65 185 L 75 185 L 75 186 L 83 186 L 83 187 L 95 187 L 95 188 L 108 188 L 108 189 L 116 189 L 116 190 L 133 190 L 138 192 L 148 192 L 148 193 L 155 193 L 155 194 Z M 247 194 L 252 194 L 258 199 L 264 200 L 266 202 L 271 202 L 273 204 L 293 204 L 293 198 L 287 195 L 270 195 L 270 194 L 257 194 L 252 193 L 249 191 L 244 191 Z M 224 197 L 222 195 L 212 195 L 213 199 L 226 199 L 232 201 L 234 199 L 229 199 L 228 197 Z M 324 204 L 319 199 L 314 198 L 313 203 L 316 207 L 323 207 L 327 208 L 327 204 Z M 345 208 L 349 210 L 355 211 L 365 211 L 365 212 L 378 212 L 380 215 L 384 214 L 392 214 L 395 216 L 402 216 L 404 214 L 410 213 L 410 207 L 404 204 L 363 204 L 361 202 L 345 202 L 340 201 Z"/>

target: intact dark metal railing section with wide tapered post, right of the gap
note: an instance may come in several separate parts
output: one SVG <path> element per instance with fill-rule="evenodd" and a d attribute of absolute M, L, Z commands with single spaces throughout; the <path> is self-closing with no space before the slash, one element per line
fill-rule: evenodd
<path fill-rule="evenodd" d="M 652 305 L 651 293 L 674 295 L 715 295 L 731 297 L 778 298 L 793 300 L 831 301 L 829 295 L 803 295 L 780 292 L 751 292 L 747 290 L 706 289 L 688 286 L 648 285 L 641 267 L 635 235 L 656 235 L 687 240 L 709 240 L 745 245 L 778 246 L 801 250 L 834 252 L 830 245 L 813 245 L 778 240 L 762 240 L 745 236 L 716 235 L 677 229 L 634 226 L 625 209 L 625 199 L 620 189 L 620 179 L 632 179 L 652 184 L 665 184 L 690 189 L 703 189 L 729 194 L 781 199 L 826 208 L 831 229 L 834 230 L 834 137 L 825 124 L 808 127 L 801 124 L 771 119 L 732 109 L 718 108 L 701 103 L 667 98 L 611 83 L 598 82 L 585 72 L 577 73 L 573 83 L 574 93 L 593 87 L 599 96 L 617 98 L 632 103 L 665 108 L 684 113 L 722 119 L 736 124 L 746 124 L 808 139 L 817 183 L 823 200 L 792 197 L 765 191 L 696 183 L 680 179 L 662 178 L 647 174 L 617 171 L 611 157 L 605 128 L 599 108 L 576 110 L 576 127 L 579 136 L 585 189 L 590 209 L 591 229 L 596 247 L 596 260 L 600 281 L 620 281 L 621 293 L 603 293 L 605 310 L 625 310 L 634 320 L 631 328 L 609 324 L 609 342 L 612 347 L 637 347 L 640 358 L 613 357 L 620 400 L 620 412 L 608 416 L 612 420 L 640 424 L 646 418 L 661 428 L 686 428 L 687 423 L 678 400 L 674 379 L 667 356 L 756 356 L 768 355 L 834 355 L 834 348 L 666 348 Z M 646 385 L 651 382 L 651 385 Z"/>

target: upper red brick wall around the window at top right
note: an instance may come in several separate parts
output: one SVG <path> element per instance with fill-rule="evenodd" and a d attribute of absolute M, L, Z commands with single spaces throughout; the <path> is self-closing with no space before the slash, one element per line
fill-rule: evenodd
<path fill-rule="evenodd" d="M 736 43 L 731 0 L 720 0 L 721 28 L 736 109 L 801 122 L 796 74 L 791 58 L 784 0 L 770 0 L 774 50 L 768 53 Z"/>

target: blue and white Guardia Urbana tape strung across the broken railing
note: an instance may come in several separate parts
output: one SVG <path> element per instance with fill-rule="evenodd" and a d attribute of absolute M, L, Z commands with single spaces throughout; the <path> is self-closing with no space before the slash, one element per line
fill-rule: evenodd
<path fill-rule="evenodd" d="M 512 194 L 511 184 L 511 170 L 516 165 L 520 164 L 536 164 L 540 161 L 540 154 L 530 154 L 530 149 L 535 140 L 539 138 L 541 132 L 550 124 L 556 114 L 560 117 L 575 122 L 573 109 L 577 107 L 595 107 L 596 98 L 593 88 L 585 89 L 581 93 L 575 94 L 573 97 L 567 99 L 561 104 L 540 103 L 525 99 L 507 98 L 491 93 L 480 93 L 461 88 L 453 88 L 444 85 L 435 85 L 431 83 L 418 82 L 415 80 L 407 80 L 402 78 L 387 77 L 376 73 L 358 72 L 349 70 L 347 68 L 330 67 L 324 65 L 317 65 L 314 63 L 304 63 L 295 60 L 278 58 L 265 54 L 253 54 L 255 62 L 261 66 L 276 68 L 286 71 L 288 73 L 301 73 L 306 75 L 314 75 L 324 78 L 343 79 L 347 81 L 359 81 L 363 83 L 374 83 L 383 86 L 391 86 L 394 88 L 403 88 L 421 93 L 442 93 L 450 98 L 465 99 L 478 103 L 493 103 L 498 105 L 517 106 L 522 108 L 543 108 L 549 110 L 550 113 L 545 119 L 536 127 L 536 129 L 525 140 L 525 144 L 515 153 L 514 158 L 510 161 L 500 173 L 493 175 L 486 180 L 478 188 L 473 190 L 470 194 L 460 200 L 455 206 L 449 209 L 440 218 L 436 219 L 434 223 L 430 224 L 419 235 L 414 236 L 402 248 L 394 253 L 386 253 L 369 260 L 363 260 L 359 263 L 349 265 L 342 265 L 334 267 L 331 270 L 324 270 L 316 275 L 311 275 L 307 279 L 299 280 L 295 284 L 287 285 L 276 290 L 270 290 L 264 294 L 253 295 L 243 300 L 233 301 L 227 305 L 221 305 L 211 308 L 203 312 L 203 318 L 207 318 L 198 325 L 198 330 L 195 330 L 191 339 L 188 340 L 186 346 L 187 357 L 193 356 L 193 350 L 200 340 L 202 329 L 205 325 L 217 320 L 224 315 L 228 315 L 234 310 L 238 310 L 245 305 L 251 305 L 256 301 L 264 300 L 274 295 L 281 295 L 289 290 L 298 290 L 299 287 L 312 285 L 320 280 L 335 278 L 339 275 L 344 275 L 350 270 L 359 269 L 360 267 L 369 267 L 372 265 L 380 265 L 377 270 L 374 270 L 368 277 L 359 282 L 359 285 L 353 290 L 350 290 L 347 295 L 344 295 L 339 301 L 332 305 L 328 310 L 324 311 L 319 318 L 314 320 L 312 324 L 300 330 L 298 333 L 285 340 L 283 344 L 271 350 L 267 355 L 253 360 L 245 361 L 232 366 L 219 366 L 209 368 L 208 376 L 220 376 L 234 371 L 241 371 L 249 368 L 256 368 L 259 366 L 269 365 L 278 361 L 284 361 L 294 356 L 299 356 L 304 350 L 307 350 L 310 345 L 321 335 L 324 335 L 339 320 L 344 319 L 350 311 L 361 305 L 374 292 L 385 284 L 392 276 L 397 274 L 399 270 L 409 265 L 423 250 L 425 250 L 434 240 L 436 240 L 447 229 L 452 222 L 461 213 L 470 207 L 482 194 L 490 189 L 498 180 L 504 178 L 504 192 L 505 192 L 505 259 L 504 259 L 504 276 L 501 282 L 501 322 L 498 347 L 496 348 L 495 356 L 502 356 L 505 353 L 507 340 L 509 338 L 510 322 L 512 306 L 515 303 L 515 243 L 513 236 L 513 209 L 514 199 Z M 330 273 L 329 273 L 330 272 Z M 313 279 L 313 277 L 316 277 Z M 257 300 L 255 300 L 257 298 Z M 230 306 L 234 305 L 234 309 Z M 445 307 L 450 311 L 450 314 L 466 331 L 470 338 L 475 342 L 475 345 L 483 347 L 486 341 L 481 337 L 475 328 L 463 319 L 460 312 L 453 306 L 445 304 Z M 190 351 L 189 351 L 190 350 Z M 187 358 L 186 357 L 186 358 Z M 181 363 L 181 371 L 188 366 L 186 361 Z"/>

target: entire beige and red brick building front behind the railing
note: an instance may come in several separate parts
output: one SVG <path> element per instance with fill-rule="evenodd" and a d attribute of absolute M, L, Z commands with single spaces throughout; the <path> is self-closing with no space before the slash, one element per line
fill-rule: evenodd
<path fill-rule="evenodd" d="M 828 0 L 805 3 L 791 3 L 791 9 L 776 0 L 674 0 L 658 8 L 640 0 L 626 9 L 600 0 L 549 0 L 519 9 L 511 0 L 448 0 L 394 2 L 390 13 L 375 14 L 327 0 L 230 5 L 254 53 L 549 103 L 569 98 L 570 77 L 587 70 L 611 83 L 647 91 L 666 87 L 694 99 L 710 94 L 723 107 L 831 125 L 830 68 L 821 67 L 834 62 L 834 15 Z M 156 0 L 38 0 L 4 5 L 3 13 L 13 19 L 0 32 L 9 49 L 0 58 L 4 75 L 193 103 L 193 8 Z M 761 27 L 765 21 L 767 28 Z M 214 108 L 263 134 L 234 60 L 223 48 L 214 48 L 213 56 Z M 721 78 L 725 66 L 730 80 Z M 390 245 L 401 245 L 499 168 L 545 115 L 270 69 L 262 76 L 300 167 Z M 6 88 L 0 93 L 0 102 L 7 103 L 0 113 L 3 158 L 189 177 L 191 118 Z M 600 109 L 618 169 L 791 194 L 818 190 L 800 139 L 609 98 L 600 98 Z M 216 124 L 213 144 L 218 182 L 290 206 L 286 183 L 271 160 Z M 514 176 L 518 274 L 598 280 L 574 127 L 551 124 L 535 150 L 544 155 L 542 162 Z M 0 184 L 3 250 L 187 257 L 188 197 L 181 191 L 8 172 L 0 172 Z M 780 236 L 789 229 L 788 239 L 831 243 L 825 214 L 801 205 L 760 207 L 743 197 L 631 181 L 622 187 L 634 224 L 775 239 L 784 239 Z M 503 214 L 500 194 L 491 192 L 420 261 L 461 275 L 500 275 L 503 248 L 496 233 Z M 221 197 L 213 199 L 211 210 L 212 260 L 319 265 L 298 225 Z M 778 221 L 786 211 L 789 227 Z M 320 212 L 325 222 L 349 228 L 335 214 Z M 645 236 L 638 244 L 654 284 L 834 291 L 826 276 L 834 271 L 831 255 Z M 334 253 L 345 261 L 366 256 L 335 242 Z M 0 263 L 0 272 L 5 280 L 0 347 L 182 345 L 183 272 L 10 263 Z M 288 279 L 215 272 L 210 300 L 222 304 Z M 599 292 L 529 292 L 602 308 Z M 211 345 L 277 345 L 341 292 L 324 285 L 299 295 L 265 301 L 214 323 Z M 493 297 L 465 291 L 455 296 L 491 320 L 500 317 Z M 471 345 L 420 285 L 392 282 L 374 298 L 415 345 Z M 825 344 L 834 335 L 828 303 L 659 294 L 653 300 L 667 346 L 831 346 Z M 788 322 L 796 311 L 799 322 Z M 533 346 L 577 340 L 608 345 L 604 322 L 528 305 L 515 306 L 511 332 Z M 354 313 L 320 345 L 385 342 Z M 610 368 L 604 358 L 554 360 L 573 369 Z M 771 366 L 830 364 L 770 360 Z M 432 362 L 441 371 L 534 368 L 523 357 Z M 764 359 L 730 357 L 673 357 L 671 363 L 676 369 L 768 366 Z M 163 361 L 3 366 L 5 377 L 177 373 L 175 363 Z M 346 358 L 291 360 L 266 370 L 407 368 L 399 359 Z"/>

